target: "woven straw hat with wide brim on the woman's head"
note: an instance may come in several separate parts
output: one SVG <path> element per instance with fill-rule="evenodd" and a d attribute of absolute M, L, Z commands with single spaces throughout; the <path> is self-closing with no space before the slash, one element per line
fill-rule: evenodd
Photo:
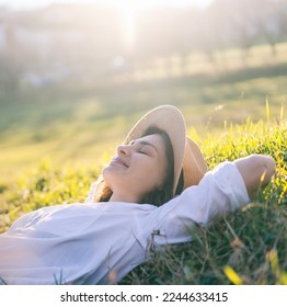
<path fill-rule="evenodd" d="M 197 144 L 186 137 L 185 121 L 180 110 L 172 105 L 161 105 L 151 110 L 136 123 L 124 144 L 140 138 L 150 126 L 157 126 L 170 137 L 174 156 L 173 195 L 175 195 L 182 172 L 183 189 L 181 190 L 198 184 L 207 171 L 207 164 Z"/>

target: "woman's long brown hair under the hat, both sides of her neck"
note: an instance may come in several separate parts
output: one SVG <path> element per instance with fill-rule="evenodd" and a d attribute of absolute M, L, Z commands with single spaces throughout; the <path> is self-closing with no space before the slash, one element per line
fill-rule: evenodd
<path fill-rule="evenodd" d="M 161 189 L 154 189 L 144 195 L 144 197 L 140 200 L 139 204 L 152 204 L 156 206 L 161 206 L 162 204 L 167 203 L 173 197 L 172 189 L 173 189 L 173 180 L 174 180 L 174 156 L 173 156 L 173 148 L 170 140 L 170 137 L 168 134 L 160 129 L 157 126 L 150 126 L 147 128 L 141 137 L 148 136 L 148 135 L 160 135 L 164 143 L 164 152 L 168 161 L 168 167 L 165 170 L 165 180 L 163 182 L 163 185 Z M 96 185 L 95 190 L 95 202 L 108 202 L 113 192 L 106 184 L 103 178 L 99 180 L 99 183 Z"/>

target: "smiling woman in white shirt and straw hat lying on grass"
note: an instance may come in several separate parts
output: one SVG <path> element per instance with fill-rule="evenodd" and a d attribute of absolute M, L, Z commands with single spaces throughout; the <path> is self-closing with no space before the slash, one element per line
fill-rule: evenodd
<path fill-rule="evenodd" d="M 253 155 L 207 172 L 181 112 L 157 107 L 131 129 L 87 203 L 45 207 L 0 235 L 3 284 L 110 284 L 157 246 L 190 241 L 188 228 L 248 204 L 275 171 Z"/>

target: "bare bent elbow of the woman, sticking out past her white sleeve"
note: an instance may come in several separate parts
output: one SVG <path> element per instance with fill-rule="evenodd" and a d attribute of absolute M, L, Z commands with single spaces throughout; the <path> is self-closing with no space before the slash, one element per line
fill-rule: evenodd
<path fill-rule="evenodd" d="M 240 171 L 250 198 L 254 198 L 259 189 L 264 189 L 275 172 L 276 164 L 272 157 L 251 155 L 234 161 Z"/>

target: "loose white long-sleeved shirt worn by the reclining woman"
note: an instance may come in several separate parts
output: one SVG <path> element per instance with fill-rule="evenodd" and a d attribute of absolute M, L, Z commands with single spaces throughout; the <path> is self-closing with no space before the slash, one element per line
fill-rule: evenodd
<path fill-rule="evenodd" d="M 122 202 L 44 207 L 0 235 L 0 280 L 7 284 L 110 284 L 149 259 L 152 246 L 186 242 L 195 223 L 250 202 L 234 163 L 157 207 Z"/>

